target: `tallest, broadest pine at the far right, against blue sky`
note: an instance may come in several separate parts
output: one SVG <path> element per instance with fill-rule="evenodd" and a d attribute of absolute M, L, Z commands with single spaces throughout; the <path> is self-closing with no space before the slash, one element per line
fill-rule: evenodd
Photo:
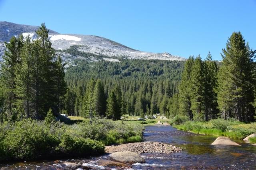
<path fill-rule="evenodd" d="M 254 54 L 240 32 L 234 32 L 222 49 L 218 73 L 218 105 L 225 119 L 254 120 Z"/>

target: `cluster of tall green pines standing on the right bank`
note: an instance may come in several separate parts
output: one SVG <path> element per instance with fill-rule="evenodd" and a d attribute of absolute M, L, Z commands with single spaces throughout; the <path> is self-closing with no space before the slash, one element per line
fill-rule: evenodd
<path fill-rule="evenodd" d="M 171 115 L 208 121 L 222 117 L 243 122 L 255 120 L 255 53 L 240 32 L 234 32 L 222 49 L 222 65 L 189 57 L 185 63 L 179 93 L 171 99 Z"/>

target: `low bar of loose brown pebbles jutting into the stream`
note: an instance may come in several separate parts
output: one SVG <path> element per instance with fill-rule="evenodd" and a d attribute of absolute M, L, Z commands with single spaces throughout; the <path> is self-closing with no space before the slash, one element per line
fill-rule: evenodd
<path fill-rule="evenodd" d="M 110 154 L 114 152 L 124 152 L 124 151 L 136 152 L 138 154 L 142 154 L 142 153 L 171 154 L 174 152 L 180 152 L 182 151 L 182 149 L 172 144 L 165 144 L 161 142 L 136 142 L 136 143 L 120 144 L 117 146 L 105 147 L 105 152 Z"/>

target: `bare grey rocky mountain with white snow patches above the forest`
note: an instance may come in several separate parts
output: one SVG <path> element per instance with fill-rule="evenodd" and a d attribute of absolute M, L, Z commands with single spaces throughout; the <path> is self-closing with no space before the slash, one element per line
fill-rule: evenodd
<path fill-rule="evenodd" d="M 35 38 L 35 31 L 38 26 L 28 26 L 14 24 L 10 22 L 0 22 L 0 56 L 3 55 L 4 43 L 8 42 L 12 36 L 30 36 Z M 64 61 L 72 63 L 72 59 L 83 57 L 73 56 L 66 52 L 66 49 L 75 46 L 76 50 L 83 53 L 92 53 L 94 55 L 105 56 L 102 59 L 109 61 L 118 61 L 118 58 L 126 59 L 160 59 L 160 60 L 186 60 L 183 57 L 174 56 L 169 53 L 151 53 L 138 51 L 129 48 L 120 43 L 108 40 L 98 36 L 75 35 L 75 34 L 59 34 L 49 30 L 49 39 L 54 49 L 58 50 L 58 54 L 62 56 Z M 88 59 L 88 58 L 87 58 Z M 1 60 L 1 57 L 0 57 Z M 92 60 L 95 60 L 92 57 Z"/>

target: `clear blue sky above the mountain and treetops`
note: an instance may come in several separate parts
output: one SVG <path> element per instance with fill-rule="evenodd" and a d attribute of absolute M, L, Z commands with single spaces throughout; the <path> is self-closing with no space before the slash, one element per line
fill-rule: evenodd
<path fill-rule="evenodd" d="M 220 60 L 234 31 L 256 49 L 256 0 L 0 0 L 0 21 L 186 58 L 210 51 Z"/>

